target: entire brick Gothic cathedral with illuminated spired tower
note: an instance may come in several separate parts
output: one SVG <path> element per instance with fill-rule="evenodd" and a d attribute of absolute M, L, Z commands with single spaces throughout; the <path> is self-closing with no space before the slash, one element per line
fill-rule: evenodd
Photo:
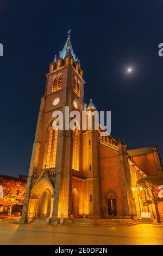
<path fill-rule="evenodd" d="M 136 181 L 162 177 L 156 146 L 127 150 L 124 141 L 99 130 L 54 130 L 54 110 L 95 111 L 84 102 L 83 70 L 70 35 L 46 74 L 21 222 L 45 219 L 136 219 L 155 216 L 145 190 Z M 162 203 L 161 203 L 162 204 Z M 160 209 L 160 215 L 163 211 Z M 161 216 L 162 217 L 162 216 Z"/>

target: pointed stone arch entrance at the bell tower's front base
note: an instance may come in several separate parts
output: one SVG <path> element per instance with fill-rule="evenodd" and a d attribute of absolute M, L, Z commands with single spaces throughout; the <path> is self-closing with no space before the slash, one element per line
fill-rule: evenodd
<path fill-rule="evenodd" d="M 54 188 L 46 178 L 42 178 L 31 190 L 28 204 L 28 217 L 52 217 L 53 201 Z"/>

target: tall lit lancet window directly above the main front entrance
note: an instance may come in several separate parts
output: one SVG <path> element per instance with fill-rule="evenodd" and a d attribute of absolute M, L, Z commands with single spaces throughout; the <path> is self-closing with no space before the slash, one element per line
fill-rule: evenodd
<path fill-rule="evenodd" d="M 49 127 L 46 138 L 46 146 L 43 160 L 43 168 L 55 168 L 57 155 L 58 130 Z"/>

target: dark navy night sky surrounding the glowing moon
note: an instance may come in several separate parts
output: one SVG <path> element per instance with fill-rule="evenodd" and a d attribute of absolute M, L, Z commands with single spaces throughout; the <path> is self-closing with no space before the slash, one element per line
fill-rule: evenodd
<path fill-rule="evenodd" d="M 69 28 L 85 102 L 111 110 L 128 149 L 156 144 L 163 158 L 162 20 L 162 0 L 0 0 L 0 174 L 28 174 L 45 74 Z"/>

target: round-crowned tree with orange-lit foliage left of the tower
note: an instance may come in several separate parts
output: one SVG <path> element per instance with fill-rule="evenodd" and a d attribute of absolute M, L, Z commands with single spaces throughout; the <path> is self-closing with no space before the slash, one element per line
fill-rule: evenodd
<path fill-rule="evenodd" d="M 11 217 L 12 207 L 22 205 L 26 192 L 26 184 L 20 181 L 3 181 L 3 198 L 0 198 L 0 204 L 9 207 Z"/>

